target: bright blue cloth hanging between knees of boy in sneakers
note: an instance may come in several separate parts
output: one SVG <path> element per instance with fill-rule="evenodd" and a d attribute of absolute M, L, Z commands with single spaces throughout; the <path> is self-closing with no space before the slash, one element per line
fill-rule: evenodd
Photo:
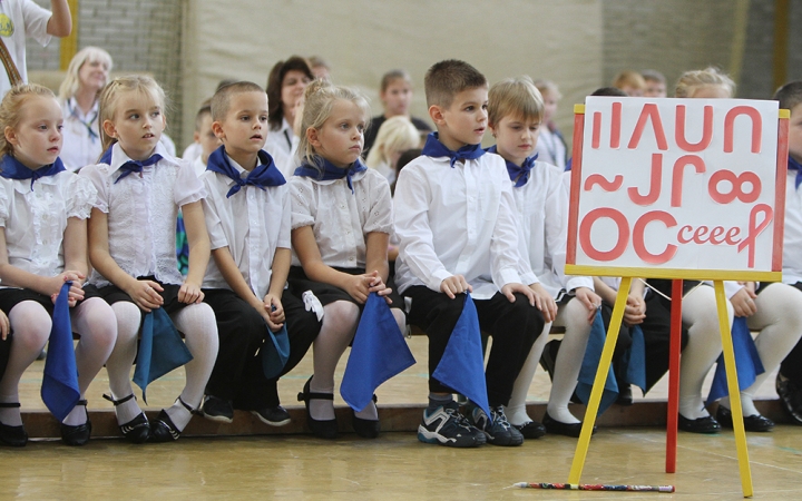
<path fill-rule="evenodd" d="M 453 301 L 460 299 L 457 296 Z M 479 316 L 470 294 L 466 293 L 463 301 L 462 313 L 432 377 L 467 396 L 490 415 Z"/>

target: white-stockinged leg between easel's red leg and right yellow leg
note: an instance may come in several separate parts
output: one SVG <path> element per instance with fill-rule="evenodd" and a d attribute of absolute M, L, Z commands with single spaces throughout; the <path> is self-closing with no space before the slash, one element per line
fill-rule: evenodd
<path fill-rule="evenodd" d="M 679 414 L 689 420 L 708 416 L 702 400 L 704 379 L 722 352 L 718 315 L 713 287 L 702 285 L 683 298 L 683 323 L 688 343 L 679 366 Z M 730 325 L 733 307 L 726 302 Z"/>

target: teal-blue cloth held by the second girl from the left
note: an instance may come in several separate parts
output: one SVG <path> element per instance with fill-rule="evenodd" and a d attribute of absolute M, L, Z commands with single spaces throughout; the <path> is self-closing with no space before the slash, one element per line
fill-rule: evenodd
<path fill-rule="evenodd" d="M 134 382 L 143 391 L 143 402 L 147 403 L 145 390 L 151 381 L 180 367 L 192 358 L 192 353 L 182 341 L 167 312 L 156 308 L 146 314 L 134 371 Z"/>

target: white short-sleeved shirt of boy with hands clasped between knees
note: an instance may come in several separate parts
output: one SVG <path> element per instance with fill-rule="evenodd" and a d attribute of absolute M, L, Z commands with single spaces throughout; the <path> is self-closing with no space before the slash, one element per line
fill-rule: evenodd
<path fill-rule="evenodd" d="M 241 176 L 250 173 L 226 155 Z M 228 247 L 239 273 L 257 297 L 270 289 L 276 248 L 292 248 L 290 243 L 290 189 L 287 185 L 246 185 L 227 198 L 236 184 L 224 174 L 206 170 L 200 177 L 206 188 L 204 216 L 212 249 Z M 209 261 L 203 283 L 207 288 L 228 288 L 214 259 Z"/>

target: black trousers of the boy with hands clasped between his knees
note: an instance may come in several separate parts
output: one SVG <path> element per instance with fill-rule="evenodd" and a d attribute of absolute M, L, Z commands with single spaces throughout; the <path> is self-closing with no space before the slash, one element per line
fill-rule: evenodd
<path fill-rule="evenodd" d="M 260 348 L 267 337 L 262 315 L 233 291 L 204 289 L 204 302 L 215 312 L 219 336 L 219 351 L 206 383 L 206 394 L 229 400 L 234 409 L 243 411 L 278 405 L 278 377 L 267 380 L 262 369 Z M 315 314 L 306 312 L 303 303 L 286 289 L 282 294 L 282 306 L 290 337 L 290 358 L 281 375 L 301 362 L 321 326 Z"/>

